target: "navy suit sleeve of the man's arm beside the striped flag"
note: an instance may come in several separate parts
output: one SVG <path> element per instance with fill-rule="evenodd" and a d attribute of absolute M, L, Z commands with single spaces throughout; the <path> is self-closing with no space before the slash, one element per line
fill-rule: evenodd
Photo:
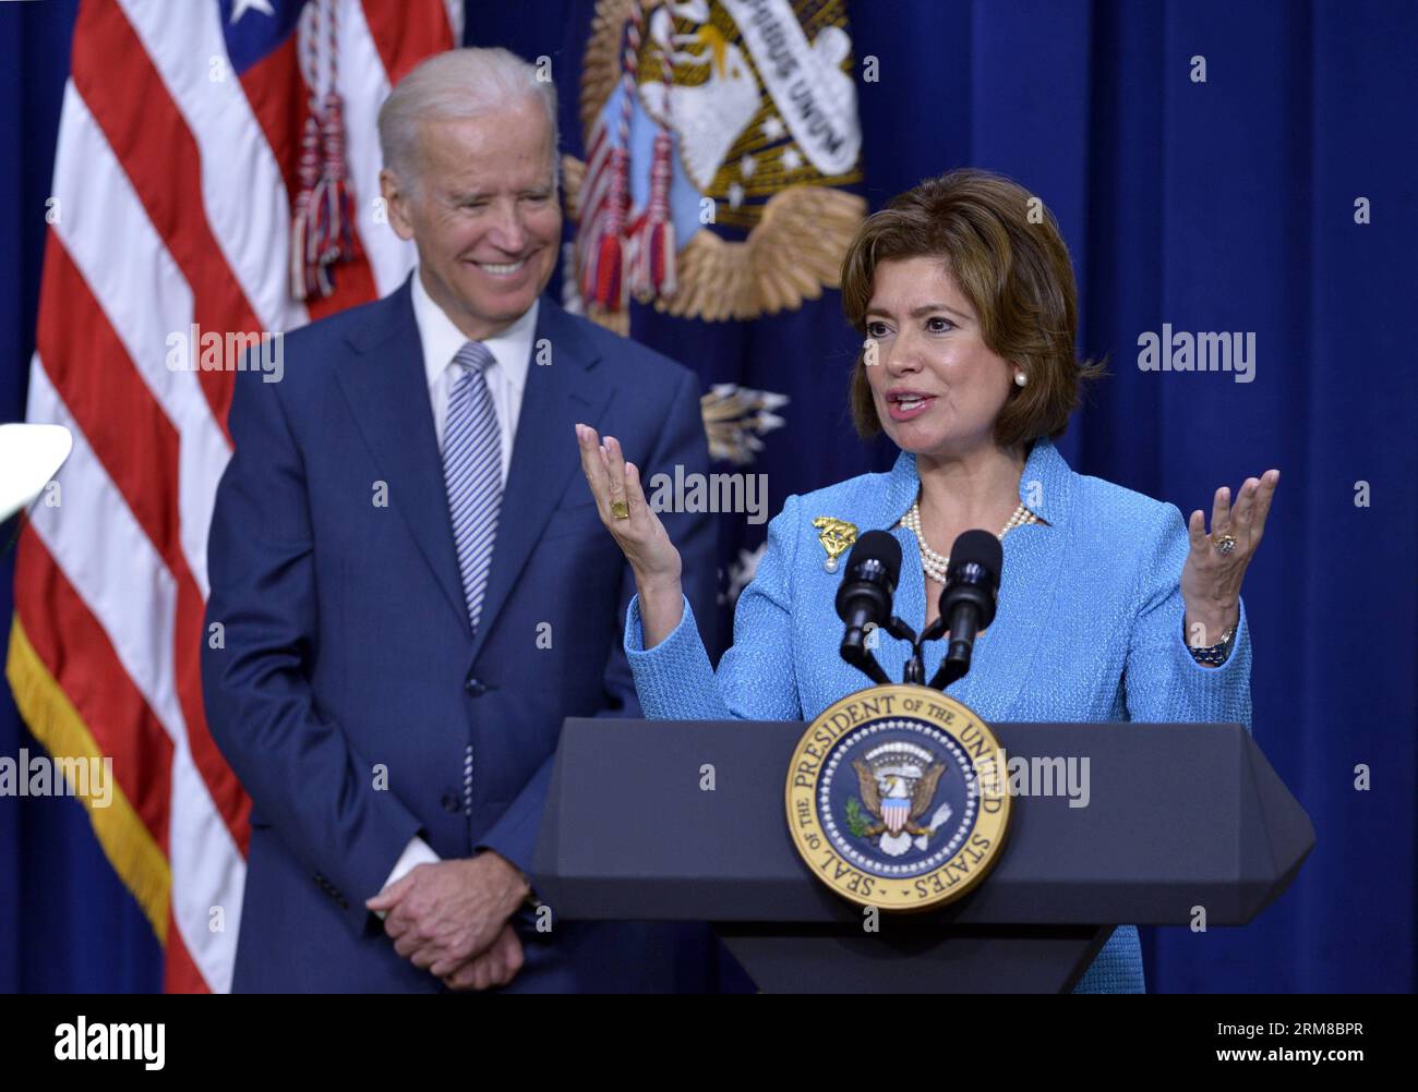
<path fill-rule="evenodd" d="M 393 793 L 374 789 L 373 765 L 315 705 L 308 673 L 319 615 L 305 465 L 281 384 L 261 375 L 237 372 L 235 453 L 208 537 L 206 635 L 221 640 L 203 640 L 207 722 L 254 810 L 362 931 L 364 899 L 420 823 Z"/>

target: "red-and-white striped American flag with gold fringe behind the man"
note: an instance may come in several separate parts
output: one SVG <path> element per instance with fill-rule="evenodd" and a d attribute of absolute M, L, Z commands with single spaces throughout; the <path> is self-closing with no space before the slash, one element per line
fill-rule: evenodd
<path fill-rule="evenodd" d="M 403 280 L 414 255 L 377 201 L 374 119 L 461 24 L 461 0 L 78 10 L 27 406 L 74 452 L 21 535 L 6 670 L 54 756 L 112 758 L 112 803 L 89 814 L 164 945 L 169 991 L 231 986 L 250 812 L 199 676 L 234 377 L 170 367 L 170 339 L 291 330 Z M 302 140 L 312 112 L 332 120 L 332 91 L 352 254 L 301 300 Z"/>

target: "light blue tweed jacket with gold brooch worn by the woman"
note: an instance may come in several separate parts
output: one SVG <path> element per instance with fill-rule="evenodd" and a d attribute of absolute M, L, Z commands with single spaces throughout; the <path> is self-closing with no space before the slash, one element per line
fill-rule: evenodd
<path fill-rule="evenodd" d="M 733 647 L 709 663 L 685 602 L 679 626 L 648 652 L 640 599 L 630 603 L 625 653 L 651 720 L 813 720 L 869 686 L 838 654 L 834 598 L 841 571 L 813 520 L 834 516 L 859 531 L 888 530 L 902 547 L 896 613 L 919 633 L 926 585 L 915 535 L 896 524 L 920 489 L 916 457 L 791 496 L 769 524 L 767 550 L 735 612 Z M 1171 504 L 1076 474 L 1048 440 L 1034 443 L 1020 500 L 1042 524 L 1004 538 L 998 610 L 976 642 L 970 673 L 946 693 L 986 721 L 1227 722 L 1251 728 L 1251 639 L 1245 609 L 1231 656 L 1201 667 L 1183 637 L 1181 568 L 1187 528 Z M 925 650 L 927 676 L 944 642 Z M 883 637 L 876 660 L 899 680 L 906 644 Z M 1137 928 L 1120 925 L 1078 993 L 1141 993 Z"/>

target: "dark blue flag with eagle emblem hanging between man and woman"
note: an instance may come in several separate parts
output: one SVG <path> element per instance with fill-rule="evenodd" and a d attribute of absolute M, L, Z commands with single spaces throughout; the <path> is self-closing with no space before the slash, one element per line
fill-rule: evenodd
<path fill-rule="evenodd" d="M 722 636 L 787 493 L 869 469 L 837 426 L 855 346 L 835 289 L 866 214 L 856 64 L 844 0 L 596 0 L 586 25 L 563 292 L 703 381 L 709 487 L 665 467 L 647 489 L 723 516 Z"/>

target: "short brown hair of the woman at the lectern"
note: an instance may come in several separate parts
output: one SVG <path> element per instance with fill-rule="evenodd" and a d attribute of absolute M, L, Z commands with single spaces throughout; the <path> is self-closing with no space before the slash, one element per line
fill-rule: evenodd
<path fill-rule="evenodd" d="M 842 259 L 842 309 L 864 337 L 881 262 L 939 258 L 980 320 L 998 357 L 1028 384 L 1010 388 L 994 422 L 1001 448 L 1059 436 L 1083 381 L 1099 364 L 1079 361 L 1078 289 L 1054 214 L 1000 174 L 953 170 L 893 197 L 873 212 Z M 865 344 L 852 368 L 852 422 L 864 439 L 882 431 L 866 380 Z"/>

